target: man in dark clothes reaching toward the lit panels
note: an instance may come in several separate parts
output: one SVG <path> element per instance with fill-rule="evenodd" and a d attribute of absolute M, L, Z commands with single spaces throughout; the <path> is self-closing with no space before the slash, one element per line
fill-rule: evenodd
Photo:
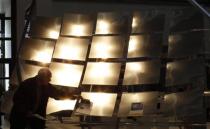
<path fill-rule="evenodd" d="M 76 99 L 79 91 L 65 93 L 52 86 L 51 72 L 48 68 L 39 70 L 35 77 L 23 81 L 13 97 L 13 108 L 10 116 L 10 129 L 44 129 L 45 121 L 35 117 L 35 114 L 46 117 L 46 107 L 49 97 L 59 99 L 66 97 Z"/>

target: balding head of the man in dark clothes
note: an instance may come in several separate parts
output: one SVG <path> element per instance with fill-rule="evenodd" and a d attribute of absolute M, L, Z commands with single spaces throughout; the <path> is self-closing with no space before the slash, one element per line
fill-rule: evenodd
<path fill-rule="evenodd" d="M 52 73 L 49 68 L 41 68 L 37 75 L 41 85 L 47 85 L 51 81 Z"/>

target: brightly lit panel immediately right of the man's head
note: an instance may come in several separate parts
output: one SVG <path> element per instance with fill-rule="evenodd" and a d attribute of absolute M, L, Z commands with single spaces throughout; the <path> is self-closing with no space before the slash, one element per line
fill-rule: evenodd
<path fill-rule="evenodd" d="M 52 84 L 78 87 L 83 66 L 65 63 L 51 63 L 50 70 L 52 71 Z"/>

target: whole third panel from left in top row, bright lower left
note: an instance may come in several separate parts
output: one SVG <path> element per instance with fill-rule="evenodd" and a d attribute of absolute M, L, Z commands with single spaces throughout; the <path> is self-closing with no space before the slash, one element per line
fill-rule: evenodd
<path fill-rule="evenodd" d="M 127 31 L 126 18 L 117 13 L 98 13 L 96 34 L 121 34 Z"/>

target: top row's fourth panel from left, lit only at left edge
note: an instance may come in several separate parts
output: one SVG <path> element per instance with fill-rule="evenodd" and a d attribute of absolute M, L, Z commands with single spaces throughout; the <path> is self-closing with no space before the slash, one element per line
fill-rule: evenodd
<path fill-rule="evenodd" d="M 158 10 L 142 11 L 133 14 L 132 33 L 163 31 L 164 14 Z"/>

